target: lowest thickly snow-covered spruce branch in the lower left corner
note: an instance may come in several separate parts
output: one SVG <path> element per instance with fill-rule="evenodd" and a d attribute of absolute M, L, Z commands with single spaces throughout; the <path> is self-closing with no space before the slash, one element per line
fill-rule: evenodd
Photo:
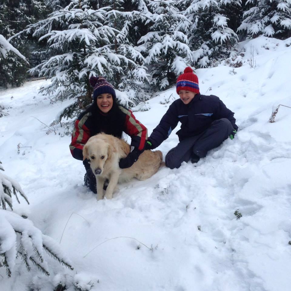
<path fill-rule="evenodd" d="M 73 270 L 69 259 L 62 255 L 59 246 L 49 236 L 45 236 L 32 221 L 18 214 L 0 209 L 0 256 L 8 277 L 11 277 L 15 261 L 21 258 L 28 271 L 32 265 L 49 276 L 48 264 L 44 259 L 45 250 L 53 259 Z"/>

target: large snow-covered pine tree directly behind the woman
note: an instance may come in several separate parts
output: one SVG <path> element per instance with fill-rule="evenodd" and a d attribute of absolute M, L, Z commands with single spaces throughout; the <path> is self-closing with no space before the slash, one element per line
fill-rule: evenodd
<path fill-rule="evenodd" d="M 73 117 L 92 102 L 91 75 L 104 76 L 115 87 L 117 72 L 120 78 L 146 76 L 145 68 L 136 62 L 138 51 L 122 44 L 115 52 L 115 36 L 122 32 L 105 24 L 109 10 L 108 6 L 99 7 L 96 1 L 73 0 L 26 30 L 49 45 L 41 65 L 30 70 L 34 73 L 39 69 L 40 76 L 51 79 L 41 92 L 55 99 L 75 100 L 60 118 Z"/>

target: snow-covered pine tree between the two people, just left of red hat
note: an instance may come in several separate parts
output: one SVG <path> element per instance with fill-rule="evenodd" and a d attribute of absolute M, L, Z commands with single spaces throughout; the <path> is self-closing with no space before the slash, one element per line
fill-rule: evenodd
<path fill-rule="evenodd" d="M 192 52 L 185 35 L 189 22 L 172 0 L 137 0 L 149 31 L 139 39 L 139 50 L 146 57 L 150 84 L 165 89 L 176 82 L 176 75 L 192 63 Z"/>

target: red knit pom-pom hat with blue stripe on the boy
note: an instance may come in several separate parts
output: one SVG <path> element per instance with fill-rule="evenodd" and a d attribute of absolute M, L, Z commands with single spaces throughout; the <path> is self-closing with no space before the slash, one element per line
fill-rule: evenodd
<path fill-rule="evenodd" d="M 179 75 L 177 79 L 176 92 L 179 90 L 187 90 L 194 93 L 199 93 L 198 77 L 193 73 L 190 67 L 184 70 L 184 74 Z"/>

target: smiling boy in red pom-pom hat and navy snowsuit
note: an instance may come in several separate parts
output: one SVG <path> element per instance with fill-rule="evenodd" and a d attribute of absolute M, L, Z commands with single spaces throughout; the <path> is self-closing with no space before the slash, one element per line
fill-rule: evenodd
<path fill-rule="evenodd" d="M 179 143 L 165 157 L 170 169 L 179 168 L 189 159 L 192 163 L 198 162 L 210 149 L 228 137 L 232 139 L 238 129 L 234 113 L 217 96 L 200 94 L 198 77 L 190 67 L 178 77 L 176 92 L 180 99 L 170 105 L 145 146 L 145 149 L 158 147 L 180 121 Z"/>

